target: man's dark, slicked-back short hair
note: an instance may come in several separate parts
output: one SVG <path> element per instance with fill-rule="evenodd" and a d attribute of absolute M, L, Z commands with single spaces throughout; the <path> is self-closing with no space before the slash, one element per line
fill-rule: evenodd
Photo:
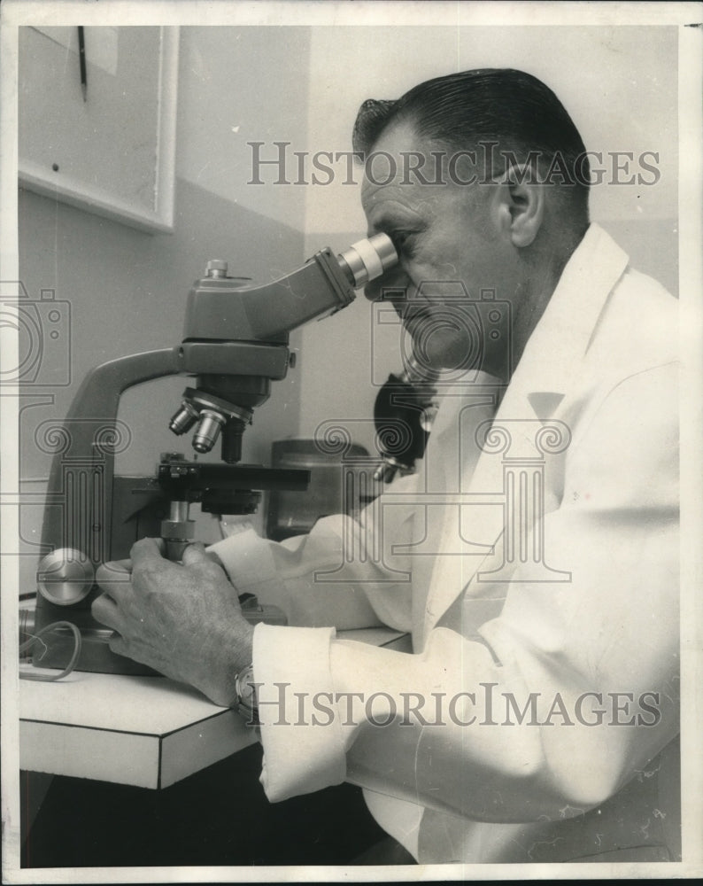
<path fill-rule="evenodd" d="M 565 185 L 560 190 L 587 218 L 591 173 L 583 139 L 564 105 L 537 77 L 510 68 L 478 69 L 436 77 L 395 100 L 367 99 L 354 124 L 354 151 L 366 155 L 387 128 L 401 122 L 453 152 L 483 144 L 477 156 L 491 156 L 490 151 L 504 168 L 505 152 L 511 152 L 518 163 L 538 167 L 540 181 Z M 486 149 L 491 143 L 498 144 Z M 489 168 L 479 175 L 500 171 Z"/>

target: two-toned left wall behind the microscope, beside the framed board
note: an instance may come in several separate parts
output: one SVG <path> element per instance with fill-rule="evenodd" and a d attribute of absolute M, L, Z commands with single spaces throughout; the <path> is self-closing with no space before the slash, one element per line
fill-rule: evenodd
<path fill-rule="evenodd" d="M 20 192 L 21 280 L 31 299 L 54 291 L 71 317 L 70 384 L 35 386 L 22 402 L 22 591 L 34 589 L 50 467 L 47 447 L 35 439 L 39 425 L 66 415 L 82 378 L 98 363 L 177 344 L 186 295 L 208 259 L 226 259 L 231 272 L 262 283 L 303 260 L 303 195 L 267 188 L 253 194 L 242 139 L 259 137 L 259 125 L 266 129 L 270 120 L 281 120 L 291 138 L 305 139 L 308 52 L 305 28 L 285 40 L 275 28 L 182 29 L 173 234 L 143 233 Z M 254 58 L 266 58 L 267 68 L 252 78 Z M 235 121 L 242 128 L 238 148 Z M 192 455 L 189 442 L 167 430 L 186 384 L 167 378 L 126 392 L 119 417 L 132 441 L 118 457 L 119 473 L 151 474 L 164 450 L 188 447 Z M 295 371 L 273 385 L 244 435 L 243 461 L 268 463 L 271 440 L 297 431 L 299 391 Z M 215 531 L 207 521 L 201 529 Z"/>

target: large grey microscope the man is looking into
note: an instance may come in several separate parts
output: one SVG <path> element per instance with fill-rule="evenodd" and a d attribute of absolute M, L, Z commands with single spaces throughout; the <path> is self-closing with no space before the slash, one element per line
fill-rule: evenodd
<path fill-rule="evenodd" d="M 35 665 L 66 668 L 77 629 L 78 670 L 153 673 L 113 653 L 108 645 L 112 633 L 92 618 L 90 605 L 101 593 L 97 567 L 127 557 L 134 542 L 147 536 L 163 539 L 166 557 L 180 560 L 194 536 L 189 515 L 194 502 L 207 513 L 251 514 L 262 491 L 306 488 L 308 471 L 241 464 L 243 432 L 253 410 L 269 397 L 271 383 L 284 378 L 292 365 L 290 331 L 346 307 L 355 289 L 397 261 L 385 234 L 339 255 L 323 249 L 303 267 L 262 286 L 228 276 L 224 261 L 209 261 L 205 276 L 189 291 L 180 344 L 120 357 L 89 373 L 55 431 L 42 525 L 42 549 L 49 553 L 37 571 L 33 628 L 44 632 L 43 647 Z M 220 462 L 166 453 L 154 476 L 117 476 L 122 392 L 176 375 L 192 382 L 170 420 L 171 431 L 192 431 L 192 447 L 199 454 L 219 441 Z M 251 621 L 272 620 L 256 600 L 244 602 L 243 612 Z M 44 630 L 59 621 L 64 625 Z"/>

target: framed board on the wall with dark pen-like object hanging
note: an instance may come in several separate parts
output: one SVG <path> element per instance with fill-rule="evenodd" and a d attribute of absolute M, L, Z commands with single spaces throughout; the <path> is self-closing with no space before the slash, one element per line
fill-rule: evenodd
<path fill-rule="evenodd" d="M 20 27 L 20 187 L 174 226 L 178 27 Z"/>

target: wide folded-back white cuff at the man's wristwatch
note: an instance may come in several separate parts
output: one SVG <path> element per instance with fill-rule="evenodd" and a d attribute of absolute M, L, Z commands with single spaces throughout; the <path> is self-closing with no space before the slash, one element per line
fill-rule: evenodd
<path fill-rule="evenodd" d="M 334 638 L 335 629 L 328 627 L 261 624 L 254 630 L 261 784 L 272 803 L 344 781 L 342 730 L 338 718 L 325 713 L 334 699 L 329 663 Z"/>

